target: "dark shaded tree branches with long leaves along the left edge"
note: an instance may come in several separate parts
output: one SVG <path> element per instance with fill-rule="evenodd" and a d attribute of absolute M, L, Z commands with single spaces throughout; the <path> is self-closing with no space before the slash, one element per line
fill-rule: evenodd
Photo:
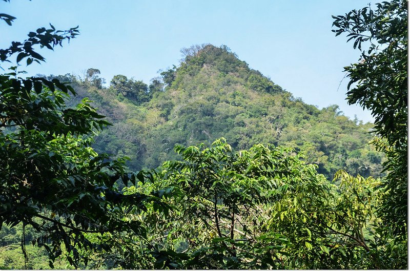
<path fill-rule="evenodd" d="M 78 31 L 52 27 L 36 32 L 30 32 L 24 43 L 0 50 L 0 59 L 9 61 L 8 57 L 18 53 L 17 62 L 25 57 L 28 64 L 33 58 L 44 60 L 33 51 L 33 45 L 52 49 Z M 10 71 L 0 75 L 0 230 L 3 225 L 22 225 L 25 268 L 38 267 L 27 266 L 28 241 L 46 249 L 51 268 L 61 255 L 74 267 L 86 267 L 88 253 L 109 252 L 119 245 L 110 246 L 101 236 L 111 234 L 122 241 L 127 238 L 121 235 L 125 231 L 144 236 L 144 226 L 125 220 L 127 210 L 129 206 L 145 209 L 146 201 L 159 199 L 118 192 L 116 182 L 135 184 L 135 174 L 127 172 L 124 159 L 110 160 L 90 147 L 92 137 L 109 122 L 87 98 L 67 108 L 68 93 L 76 93 L 58 79 L 21 78 L 17 67 Z M 36 238 L 27 240 L 26 228 L 31 228 Z M 87 234 L 95 235 L 90 238 Z"/>

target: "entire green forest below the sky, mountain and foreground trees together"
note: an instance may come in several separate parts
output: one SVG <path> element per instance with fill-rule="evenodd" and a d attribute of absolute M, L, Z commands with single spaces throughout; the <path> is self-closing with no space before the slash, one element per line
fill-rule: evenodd
<path fill-rule="evenodd" d="M 183 48 L 148 83 L 9 68 L 0 268 L 406 269 L 407 1 L 333 18 L 361 55 L 346 99 L 375 123 L 304 103 L 227 46 Z M 0 59 L 32 65 L 77 34 L 40 28 Z"/>

